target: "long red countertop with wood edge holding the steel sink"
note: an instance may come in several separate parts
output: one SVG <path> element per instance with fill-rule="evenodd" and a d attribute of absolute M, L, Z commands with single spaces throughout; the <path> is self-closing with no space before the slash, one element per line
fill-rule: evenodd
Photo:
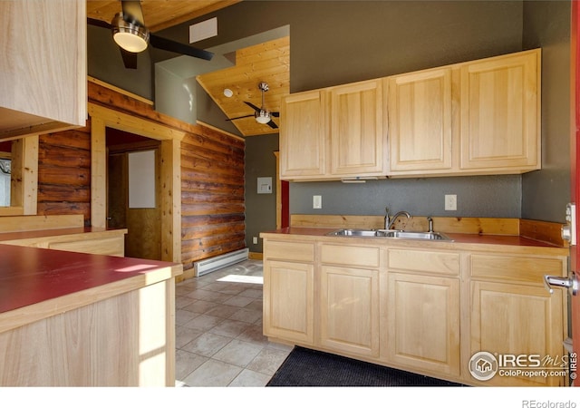
<path fill-rule="evenodd" d="M 313 237 L 313 238 L 332 238 L 340 240 L 341 242 L 357 242 L 360 244 L 364 241 L 376 242 L 389 242 L 390 244 L 404 245 L 404 246 L 417 246 L 420 243 L 421 247 L 429 248 L 449 248 L 449 249 L 478 249 L 485 248 L 491 250 L 492 248 L 517 248 L 524 252 L 530 251 L 542 251 L 553 253 L 554 255 L 568 255 L 569 249 L 556 247 L 553 244 L 549 244 L 542 241 L 537 241 L 535 239 L 520 237 L 520 236 L 508 236 L 508 235 L 478 235 L 478 234 L 457 234 L 445 232 L 449 238 L 453 239 L 450 241 L 440 241 L 440 240 L 419 240 L 419 239 L 400 239 L 400 238 L 369 238 L 369 237 L 327 237 L 326 234 L 341 228 L 281 228 L 273 231 L 262 232 L 260 236 L 275 238 L 276 235 L 284 236 L 299 236 L 302 238 Z"/>

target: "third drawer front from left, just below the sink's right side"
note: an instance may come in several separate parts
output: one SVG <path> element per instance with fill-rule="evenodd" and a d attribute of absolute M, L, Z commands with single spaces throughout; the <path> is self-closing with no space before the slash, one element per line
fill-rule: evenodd
<path fill-rule="evenodd" d="M 459 275 L 460 257 L 452 252 L 389 249 L 389 269 Z"/>

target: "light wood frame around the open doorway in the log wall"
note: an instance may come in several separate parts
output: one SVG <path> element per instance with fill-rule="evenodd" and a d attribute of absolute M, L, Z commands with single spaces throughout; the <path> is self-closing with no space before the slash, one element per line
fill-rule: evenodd
<path fill-rule="evenodd" d="M 107 227 L 106 128 L 128 131 L 160 144 L 161 260 L 181 262 L 181 141 L 184 131 L 89 102 L 91 118 L 91 225 Z"/>

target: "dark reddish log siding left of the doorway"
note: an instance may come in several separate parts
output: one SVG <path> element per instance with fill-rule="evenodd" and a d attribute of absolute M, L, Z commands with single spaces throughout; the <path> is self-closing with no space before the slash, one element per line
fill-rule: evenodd
<path fill-rule="evenodd" d="M 82 214 L 91 225 L 91 130 L 44 134 L 38 140 L 39 215 Z"/>

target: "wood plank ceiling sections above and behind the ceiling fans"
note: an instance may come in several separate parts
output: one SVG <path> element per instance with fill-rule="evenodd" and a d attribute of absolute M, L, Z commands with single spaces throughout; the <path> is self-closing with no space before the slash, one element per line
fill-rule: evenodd
<path fill-rule="evenodd" d="M 141 0 L 143 19 L 151 32 L 207 15 L 242 0 Z M 111 23 L 113 16 L 121 11 L 119 0 L 87 0 L 87 16 Z M 247 106 L 251 102 L 262 106 L 262 93 L 258 83 L 265 82 L 265 107 L 270 112 L 280 112 L 282 96 L 290 92 L 290 38 L 276 39 L 256 44 L 236 52 L 236 65 L 213 73 L 198 76 L 198 83 L 218 104 L 227 118 L 252 114 Z M 233 96 L 227 98 L 225 89 Z M 279 118 L 273 118 L 279 125 Z M 278 132 L 267 124 L 256 122 L 254 117 L 233 121 L 244 136 Z"/>

